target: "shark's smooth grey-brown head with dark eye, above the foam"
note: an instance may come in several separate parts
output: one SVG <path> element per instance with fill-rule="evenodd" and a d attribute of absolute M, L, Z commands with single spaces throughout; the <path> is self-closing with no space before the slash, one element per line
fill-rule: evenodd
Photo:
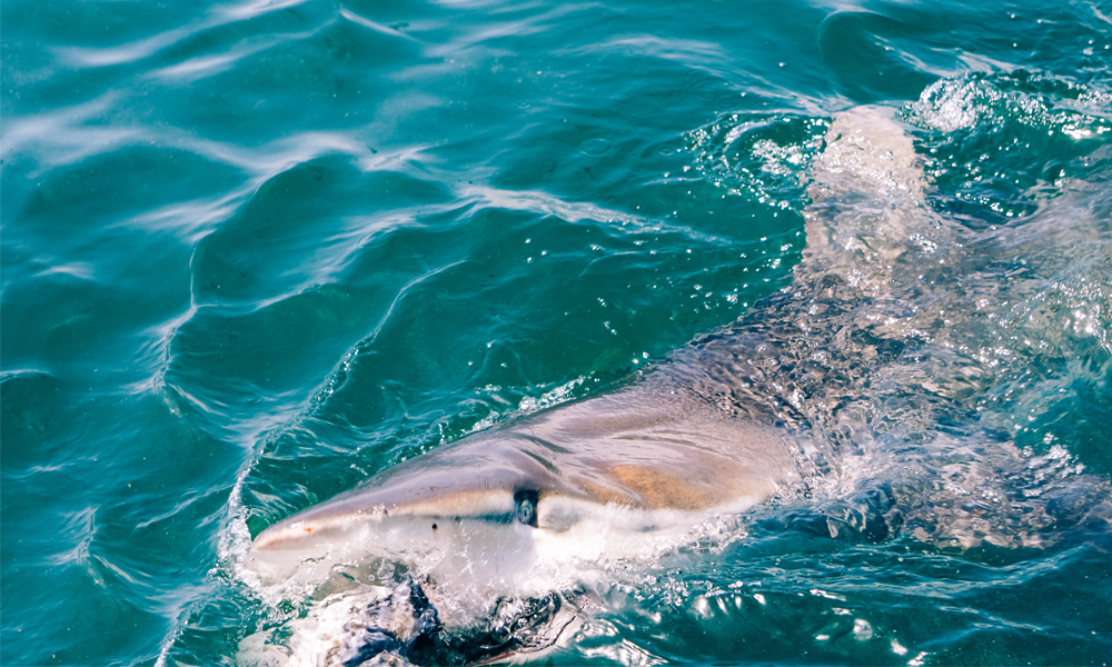
<path fill-rule="evenodd" d="M 651 557 L 794 475 L 776 431 L 674 408 L 606 396 L 475 434 L 267 528 L 251 567 L 320 579 L 387 559 L 439 586 L 540 595 L 584 564 Z"/>

